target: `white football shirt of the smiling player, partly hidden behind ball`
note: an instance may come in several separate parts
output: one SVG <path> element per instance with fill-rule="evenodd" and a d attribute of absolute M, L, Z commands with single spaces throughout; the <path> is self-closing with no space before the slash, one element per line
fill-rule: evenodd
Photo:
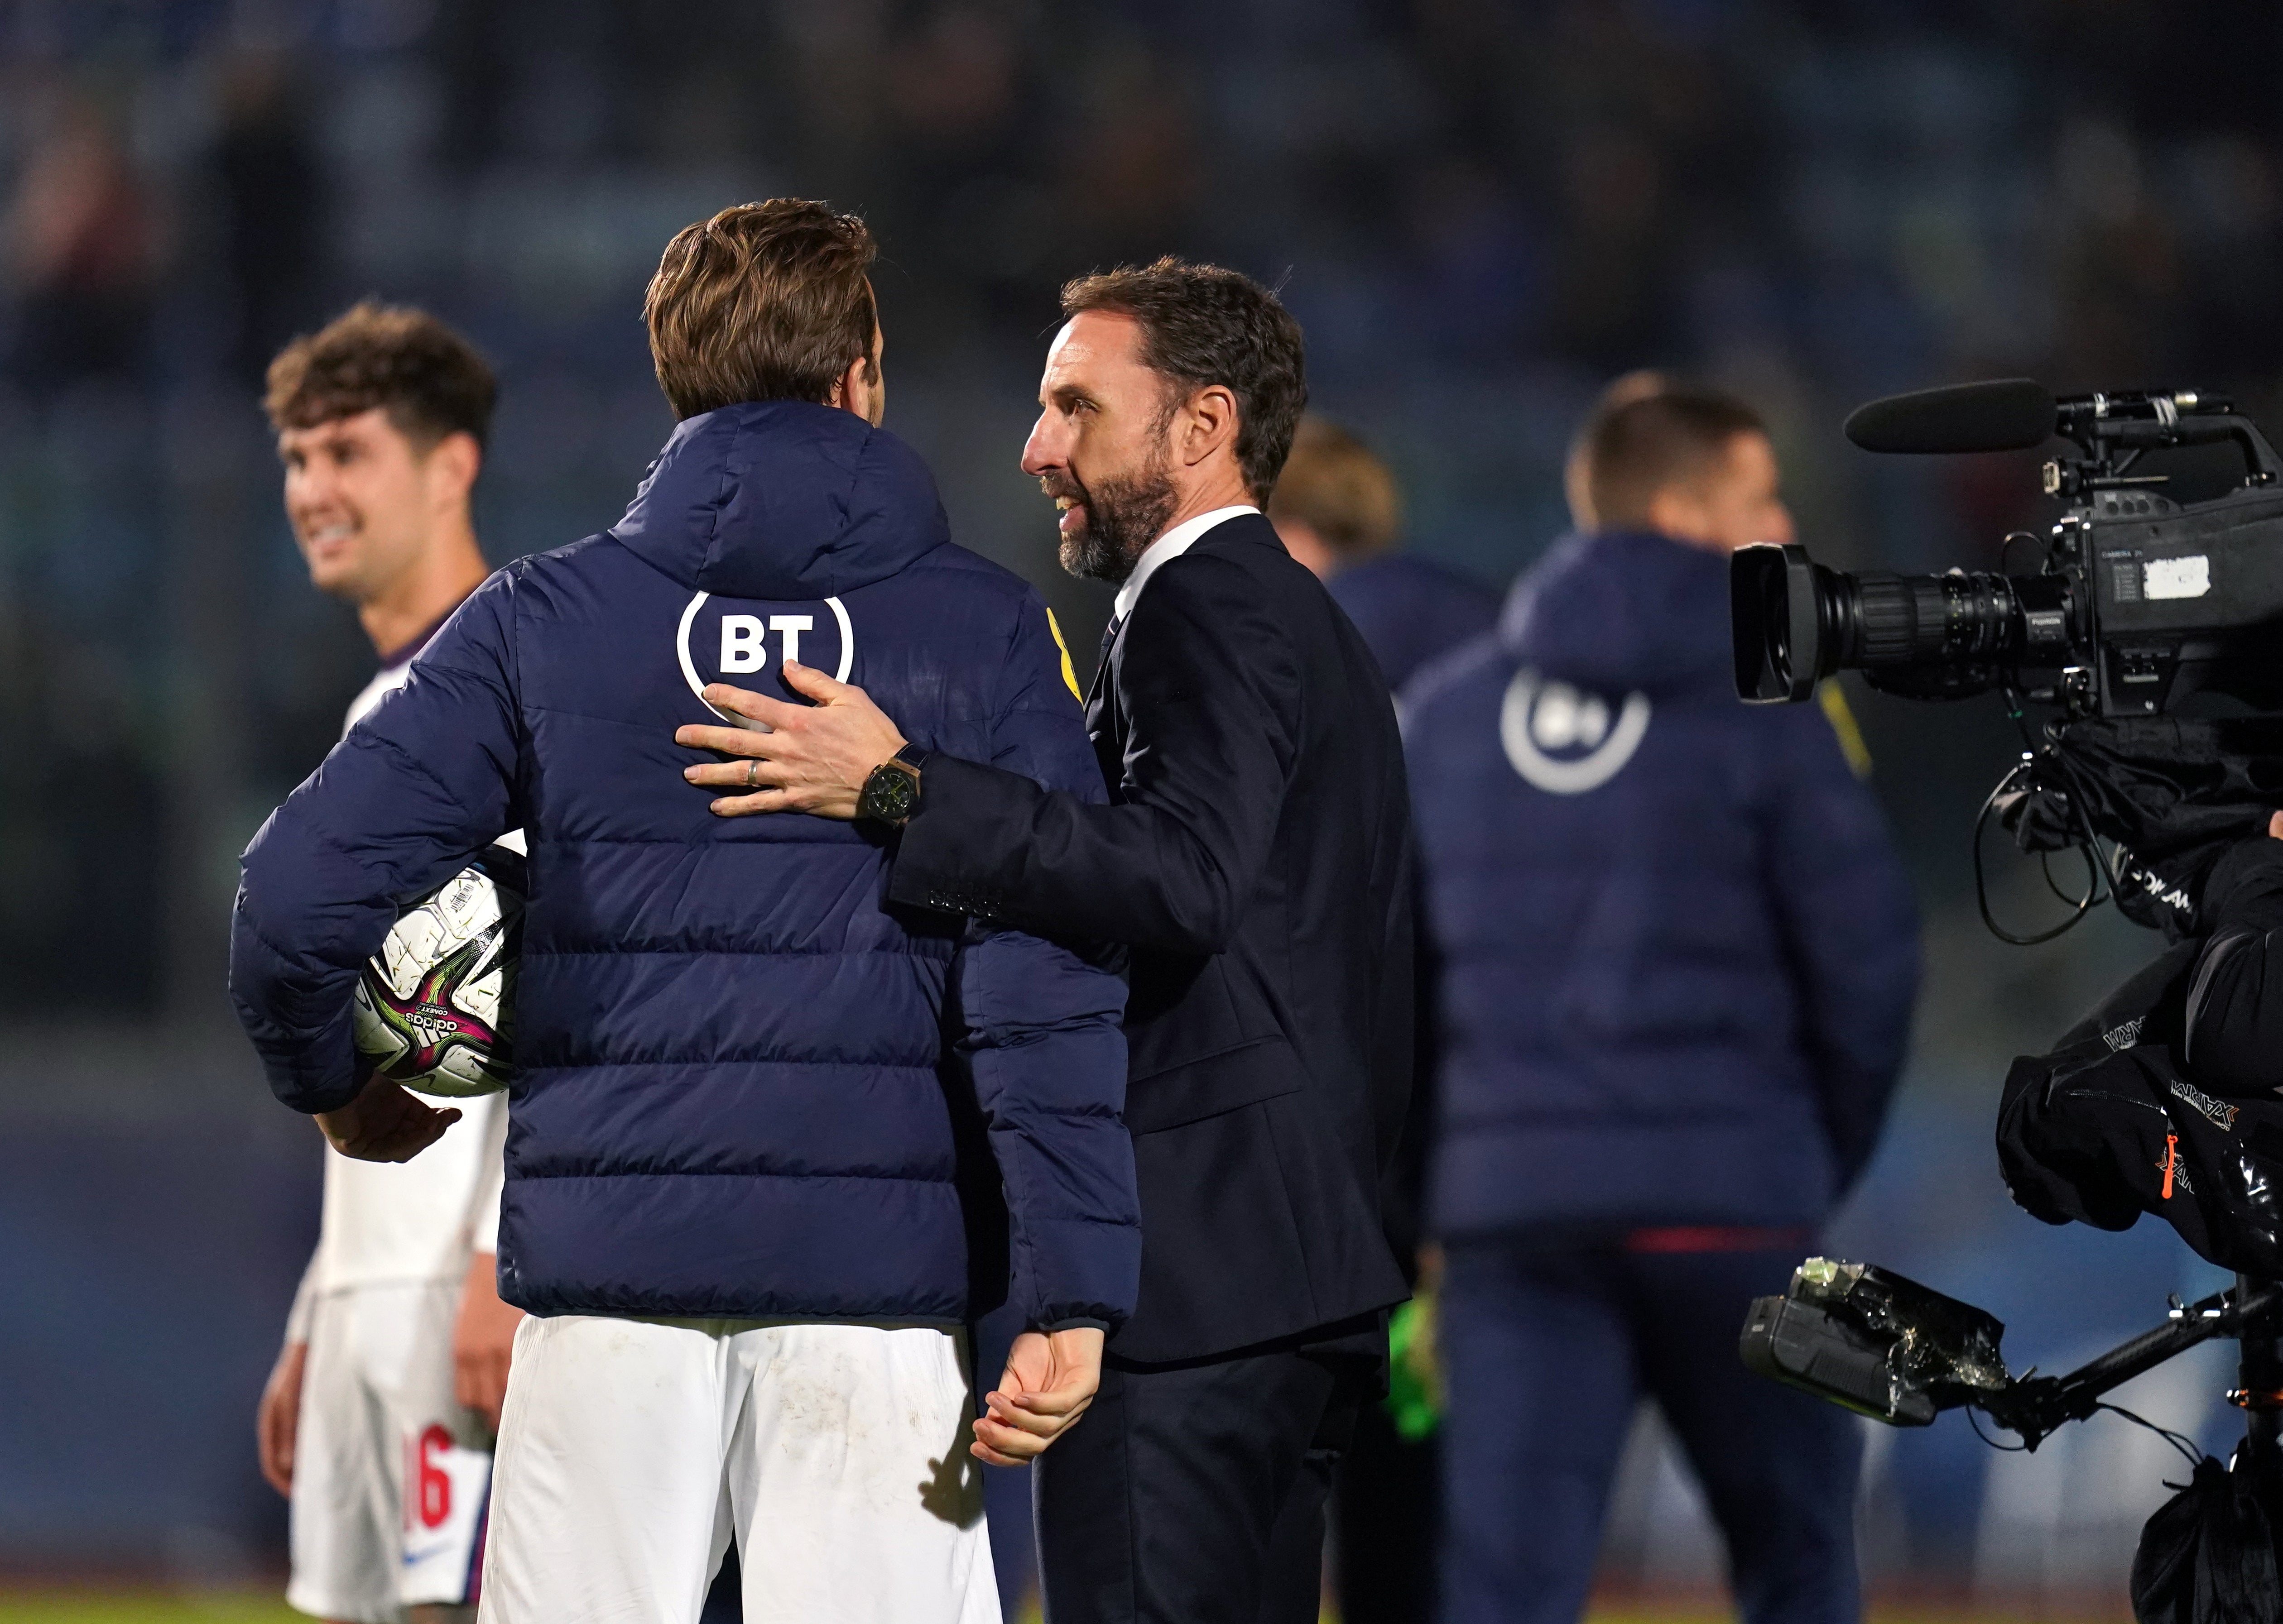
<path fill-rule="evenodd" d="M 427 636 L 374 673 L 349 703 L 342 737 L 404 687 L 413 655 L 425 645 Z M 521 830 L 500 844 L 523 851 Z M 452 1104 L 461 1120 L 411 1161 L 356 1161 L 324 1147 L 324 1218 L 308 1291 L 402 1280 L 459 1282 L 470 1252 L 498 1250 L 507 1097 L 477 1095 Z"/>

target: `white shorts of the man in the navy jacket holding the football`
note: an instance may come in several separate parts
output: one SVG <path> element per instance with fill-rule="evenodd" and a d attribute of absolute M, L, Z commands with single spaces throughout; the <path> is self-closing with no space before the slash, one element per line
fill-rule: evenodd
<path fill-rule="evenodd" d="M 527 1318 L 482 1624 L 998 1624 L 966 1339 L 934 1325 Z"/>

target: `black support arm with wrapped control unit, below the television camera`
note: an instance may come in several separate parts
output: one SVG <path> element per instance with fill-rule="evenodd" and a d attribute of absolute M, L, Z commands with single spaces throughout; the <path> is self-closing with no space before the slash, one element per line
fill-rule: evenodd
<path fill-rule="evenodd" d="M 2103 1398 L 2189 1348 L 2242 1343 L 2228 1400 L 2249 1412 L 2240 1464 L 2283 1467 L 2283 1282 L 2237 1275 L 2235 1286 L 2080 1364 L 2066 1375 L 2009 1375 L 2004 1325 L 1982 1309 L 1872 1264 L 1810 1257 L 1781 1298 L 1758 1298 L 1740 1353 L 1760 1375 L 1888 1426 L 1929 1426 L 1943 1410 L 1979 1410 L 2036 1448 Z"/>

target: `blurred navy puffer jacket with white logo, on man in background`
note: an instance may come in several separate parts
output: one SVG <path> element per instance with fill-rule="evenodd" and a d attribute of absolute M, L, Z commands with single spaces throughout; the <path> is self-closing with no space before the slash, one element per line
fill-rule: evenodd
<path fill-rule="evenodd" d="M 1742 705 L 1728 636 L 1724 557 L 1580 536 L 1404 691 L 1445 1239 L 1813 1225 L 1872 1152 L 1909 880 L 1826 716 Z"/>

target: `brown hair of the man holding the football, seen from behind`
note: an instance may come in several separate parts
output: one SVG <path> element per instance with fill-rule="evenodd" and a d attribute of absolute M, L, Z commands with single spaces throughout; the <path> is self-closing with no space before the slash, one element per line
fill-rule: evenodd
<path fill-rule="evenodd" d="M 740 203 L 676 233 L 642 299 L 673 415 L 822 404 L 852 360 L 877 376 L 877 253 L 861 219 L 806 198 Z"/>

